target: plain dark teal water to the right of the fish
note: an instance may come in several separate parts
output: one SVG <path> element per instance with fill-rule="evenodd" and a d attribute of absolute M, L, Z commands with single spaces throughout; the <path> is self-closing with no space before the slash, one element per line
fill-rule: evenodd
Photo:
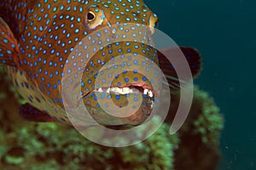
<path fill-rule="evenodd" d="M 256 169 L 256 1 L 145 1 L 160 30 L 195 47 L 203 71 L 195 81 L 224 114 L 219 169 Z"/>

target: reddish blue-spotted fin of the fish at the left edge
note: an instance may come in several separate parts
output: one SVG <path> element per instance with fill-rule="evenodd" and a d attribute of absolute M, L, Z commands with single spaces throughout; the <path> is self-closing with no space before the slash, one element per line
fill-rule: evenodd
<path fill-rule="evenodd" d="M 0 17 L 0 64 L 19 68 L 19 43 L 6 22 Z"/>

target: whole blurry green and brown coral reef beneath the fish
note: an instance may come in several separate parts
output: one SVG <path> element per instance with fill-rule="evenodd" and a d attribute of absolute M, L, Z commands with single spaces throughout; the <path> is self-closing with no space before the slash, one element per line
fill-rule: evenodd
<path fill-rule="evenodd" d="M 0 67 L 0 169 L 215 169 L 223 118 L 206 93 L 195 88 L 189 117 L 170 135 L 178 94 L 166 123 L 142 143 L 109 148 L 61 123 L 35 123 L 18 114 L 19 94 Z M 212 159 L 216 161 L 212 161 Z"/>

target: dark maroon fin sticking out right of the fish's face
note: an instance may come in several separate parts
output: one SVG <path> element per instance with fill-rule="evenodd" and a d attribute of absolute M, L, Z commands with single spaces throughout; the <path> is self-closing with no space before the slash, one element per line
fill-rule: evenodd
<path fill-rule="evenodd" d="M 179 49 L 187 59 L 192 76 L 195 78 L 201 71 L 201 54 L 195 48 L 179 47 Z M 173 57 L 178 57 L 177 51 L 177 48 L 165 48 L 158 52 L 160 68 L 166 75 L 167 82 L 172 90 L 180 88 L 180 84 L 174 66 L 164 54 L 173 54 Z M 177 56 L 175 56 L 176 54 Z"/>

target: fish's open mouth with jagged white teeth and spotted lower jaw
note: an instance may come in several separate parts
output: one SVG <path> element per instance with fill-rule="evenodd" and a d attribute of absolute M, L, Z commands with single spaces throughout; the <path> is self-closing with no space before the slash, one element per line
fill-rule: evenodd
<path fill-rule="evenodd" d="M 96 95 L 96 93 L 100 95 Z M 84 93 L 82 98 L 90 116 L 102 126 L 137 126 L 151 116 L 155 105 L 155 94 L 158 93 L 147 83 L 136 82 L 125 84 L 122 87 L 96 88 Z M 139 95 L 143 97 L 142 100 L 138 98 Z M 119 109 L 121 110 L 119 111 Z M 123 115 L 118 116 L 119 114 Z M 127 116 L 125 116 L 126 114 Z"/>

